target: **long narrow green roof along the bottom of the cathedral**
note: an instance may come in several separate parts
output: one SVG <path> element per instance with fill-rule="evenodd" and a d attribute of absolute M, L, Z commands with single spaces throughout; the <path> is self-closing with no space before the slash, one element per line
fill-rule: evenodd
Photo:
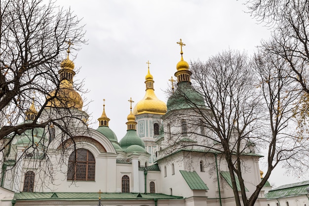
<path fill-rule="evenodd" d="M 137 197 L 139 196 L 139 197 Z M 37 193 L 37 192 L 21 192 L 15 193 L 15 200 L 98 200 L 98 193 L 64 193 L 64 192 L 46 192 L 46 193 Z M 139 193 L 101 193 L 101 200 L 117 200 L 117 199 L 126 199 L 126 200 L 151 200 L 151 199 L 183 199 L 179 196 L 171 196 L 157 193 L 148 193 L 140 194 Z"/>

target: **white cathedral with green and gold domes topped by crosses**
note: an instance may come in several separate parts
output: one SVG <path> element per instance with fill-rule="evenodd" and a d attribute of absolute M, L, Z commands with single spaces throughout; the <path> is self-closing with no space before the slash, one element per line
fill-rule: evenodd
<path fill-rule="evenodd" d="M 184 44 L 181 40 L 178 43 L 181 56 L 178 63 L 175 61 L 177 88 L 172 90 L 167 103 L 159 100 L 148 66 L 145 96 L 135 105 L 129 100 L 127 132 L 120 141 L 109 127 L 105 104 L 98 128 L 87 128 L 80 121 L 87 120 L 88 114 L 82 110 L 82 98 L 73 89 L 75 66 L 68 52 L 60 64 L 62 92 L 50 95 L 66 99 L 70 114 L 80 117 L 68 119 L 74 136 L 63 141 L 62 132 L 55 125 L 49 125 L 47 133 L 38 128 L 16 136 L 10 148 L 0 155 L 0 205 L 234 206 L 227 163 L 220 154 L 203 147 L 219 145 L 207 139 L 213 134 L 199 123 L 200 111 L 207 112 L 207 107 L 203 96 L 193 89 L 192 72 L 183 57 Z M 48 102 L 46 115 L 40 118 L 55 113 L 53 108 L 60 104 L 57 98 Z M 36 114 L 32 104 L 25 111 L 26 121 Z M 30 144 L 38 148 L 35 155 L 25 151 Z M 46 149 L 48 160 L 39 152 L 40 148 Z M 250 148 L 250 153 L 243 157 L 248 168 L 243 174 L 248 196 L 261 182 L 262 156 L 254 151 Z M 47 172 L 49 164 L 53 167 Z M 264 190 L 255 205 L 267 205 Z"/>

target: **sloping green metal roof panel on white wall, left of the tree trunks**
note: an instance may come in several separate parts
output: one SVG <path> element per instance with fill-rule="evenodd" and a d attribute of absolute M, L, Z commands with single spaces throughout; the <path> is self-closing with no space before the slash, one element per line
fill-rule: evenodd
<path fill-rule="evenodd" d="M 179 170 L 192 190 L 209 190 L 196 171 Z"/>

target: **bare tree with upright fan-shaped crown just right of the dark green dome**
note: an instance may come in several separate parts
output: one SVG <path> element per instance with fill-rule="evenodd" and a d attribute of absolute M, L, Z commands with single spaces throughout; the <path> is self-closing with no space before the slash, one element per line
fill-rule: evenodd
<path fill-rule="evenodd" d="M 211 57 L 206 63 L 191 64 L 196 88 L 203 95 L 209 115 L 203 116 L 203 124 L 217 137 L 220 146 L 214 147 L 226 160 L 232 179 L 237 206 L 250 205 L 247 199 L 243 175 L 243 157 L 253 152 L 249 148 L 255 142 L 259 120 L 262 117 L 261 98 L 257 95 L 254 73 L 245 53 L 226 51 Z M 242 201 L 239 198 L 238 177 Z M 254 193 L 253 198 L 258 197 Z"/>

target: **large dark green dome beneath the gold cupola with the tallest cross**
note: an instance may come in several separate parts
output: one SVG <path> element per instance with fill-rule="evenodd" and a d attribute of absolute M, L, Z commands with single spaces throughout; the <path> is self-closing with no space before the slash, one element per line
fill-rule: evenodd
<path fill-rule="evenodd" d="M 193 107 L 205 108 L 203 96 L 193 89 L 191 82 L 179 82 L 175 93 L 167 100 L 167 112 Z"/>

